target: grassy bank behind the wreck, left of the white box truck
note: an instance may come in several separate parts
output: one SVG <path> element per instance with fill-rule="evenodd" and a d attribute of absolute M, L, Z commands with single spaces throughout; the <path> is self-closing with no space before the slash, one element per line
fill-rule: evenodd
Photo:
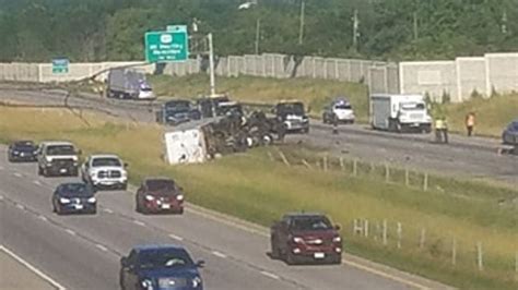
<path fill-rule="evenodd" d="M 210 92 L 209 76 L 195 74 L 181 77 L 168 75 L 151 76 L 158 96 L 192 98 Z M 228 93 L 232 98 L 248 102 L 275 104 L 280 99 L 304 101 L 310 114 L 321 117 L 322 108 L 337 96 L 346 96 L 360 121 L 368 121 L 367 87 L 356 83 L 313 78 L 272 78 L 257 76 L 216 77 L 219 93 Z"/>

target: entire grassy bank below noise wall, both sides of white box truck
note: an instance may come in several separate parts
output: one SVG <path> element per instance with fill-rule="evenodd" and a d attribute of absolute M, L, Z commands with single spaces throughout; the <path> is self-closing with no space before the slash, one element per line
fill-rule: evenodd
<path fill-rule="evenodd" d="M 181 77 L 168 75 L 151 76 L 160 96 L 195 97 L 209 92 L 209 76 L 197 74 Z M 271 78 L 256 76 L 216 78 L 217 92 L 227 92 L 242 101 L 274 104 L 279 99 L 301 99 L 310 106 L 313 117 L 320 118 L 323 106 L 337 95 L 348 96 L 357 120 L 368 122 L 367 87 L 362 84 L 314 78 Z M 475 134 L 499 137 L 503 129 L 518 118 L 518 95 L 495 96 L 490 99 L 475 98 L 462 104 L 440 106 L 450 128 L 464 133 L 464 117 L 476 113 Z"/>

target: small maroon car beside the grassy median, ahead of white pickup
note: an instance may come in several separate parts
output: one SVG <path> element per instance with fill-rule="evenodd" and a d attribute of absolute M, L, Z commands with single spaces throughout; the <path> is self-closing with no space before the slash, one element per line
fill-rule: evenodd
<path fill-rule="evenodd" d="M 136 195 L 137 212 L 142 214 L 184 213 L 184 192 L 168 178 L 148 178 Z"/>

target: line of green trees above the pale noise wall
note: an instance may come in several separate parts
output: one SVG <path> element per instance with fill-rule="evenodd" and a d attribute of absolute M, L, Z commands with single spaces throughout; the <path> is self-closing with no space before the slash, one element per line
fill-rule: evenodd
<path fill-rule="evenodd" d="M 425 60 L 518 50 L 518 0 L 244 2 L 0 0 L 0 61 L 141 60 L 145 32 L 193 23 L 213 33 L 220 56 Z"/>

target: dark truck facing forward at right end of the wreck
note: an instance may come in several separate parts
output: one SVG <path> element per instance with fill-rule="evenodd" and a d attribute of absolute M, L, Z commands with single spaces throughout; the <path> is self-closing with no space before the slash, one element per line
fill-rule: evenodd
<path fill-rule="evenodd" d="M 297 100 L 280 101 L 273 108 L 279 121 L 284 123 L 287 132 L 309 132 L 309 118 L 306 114 L 304 102 Z"/>

